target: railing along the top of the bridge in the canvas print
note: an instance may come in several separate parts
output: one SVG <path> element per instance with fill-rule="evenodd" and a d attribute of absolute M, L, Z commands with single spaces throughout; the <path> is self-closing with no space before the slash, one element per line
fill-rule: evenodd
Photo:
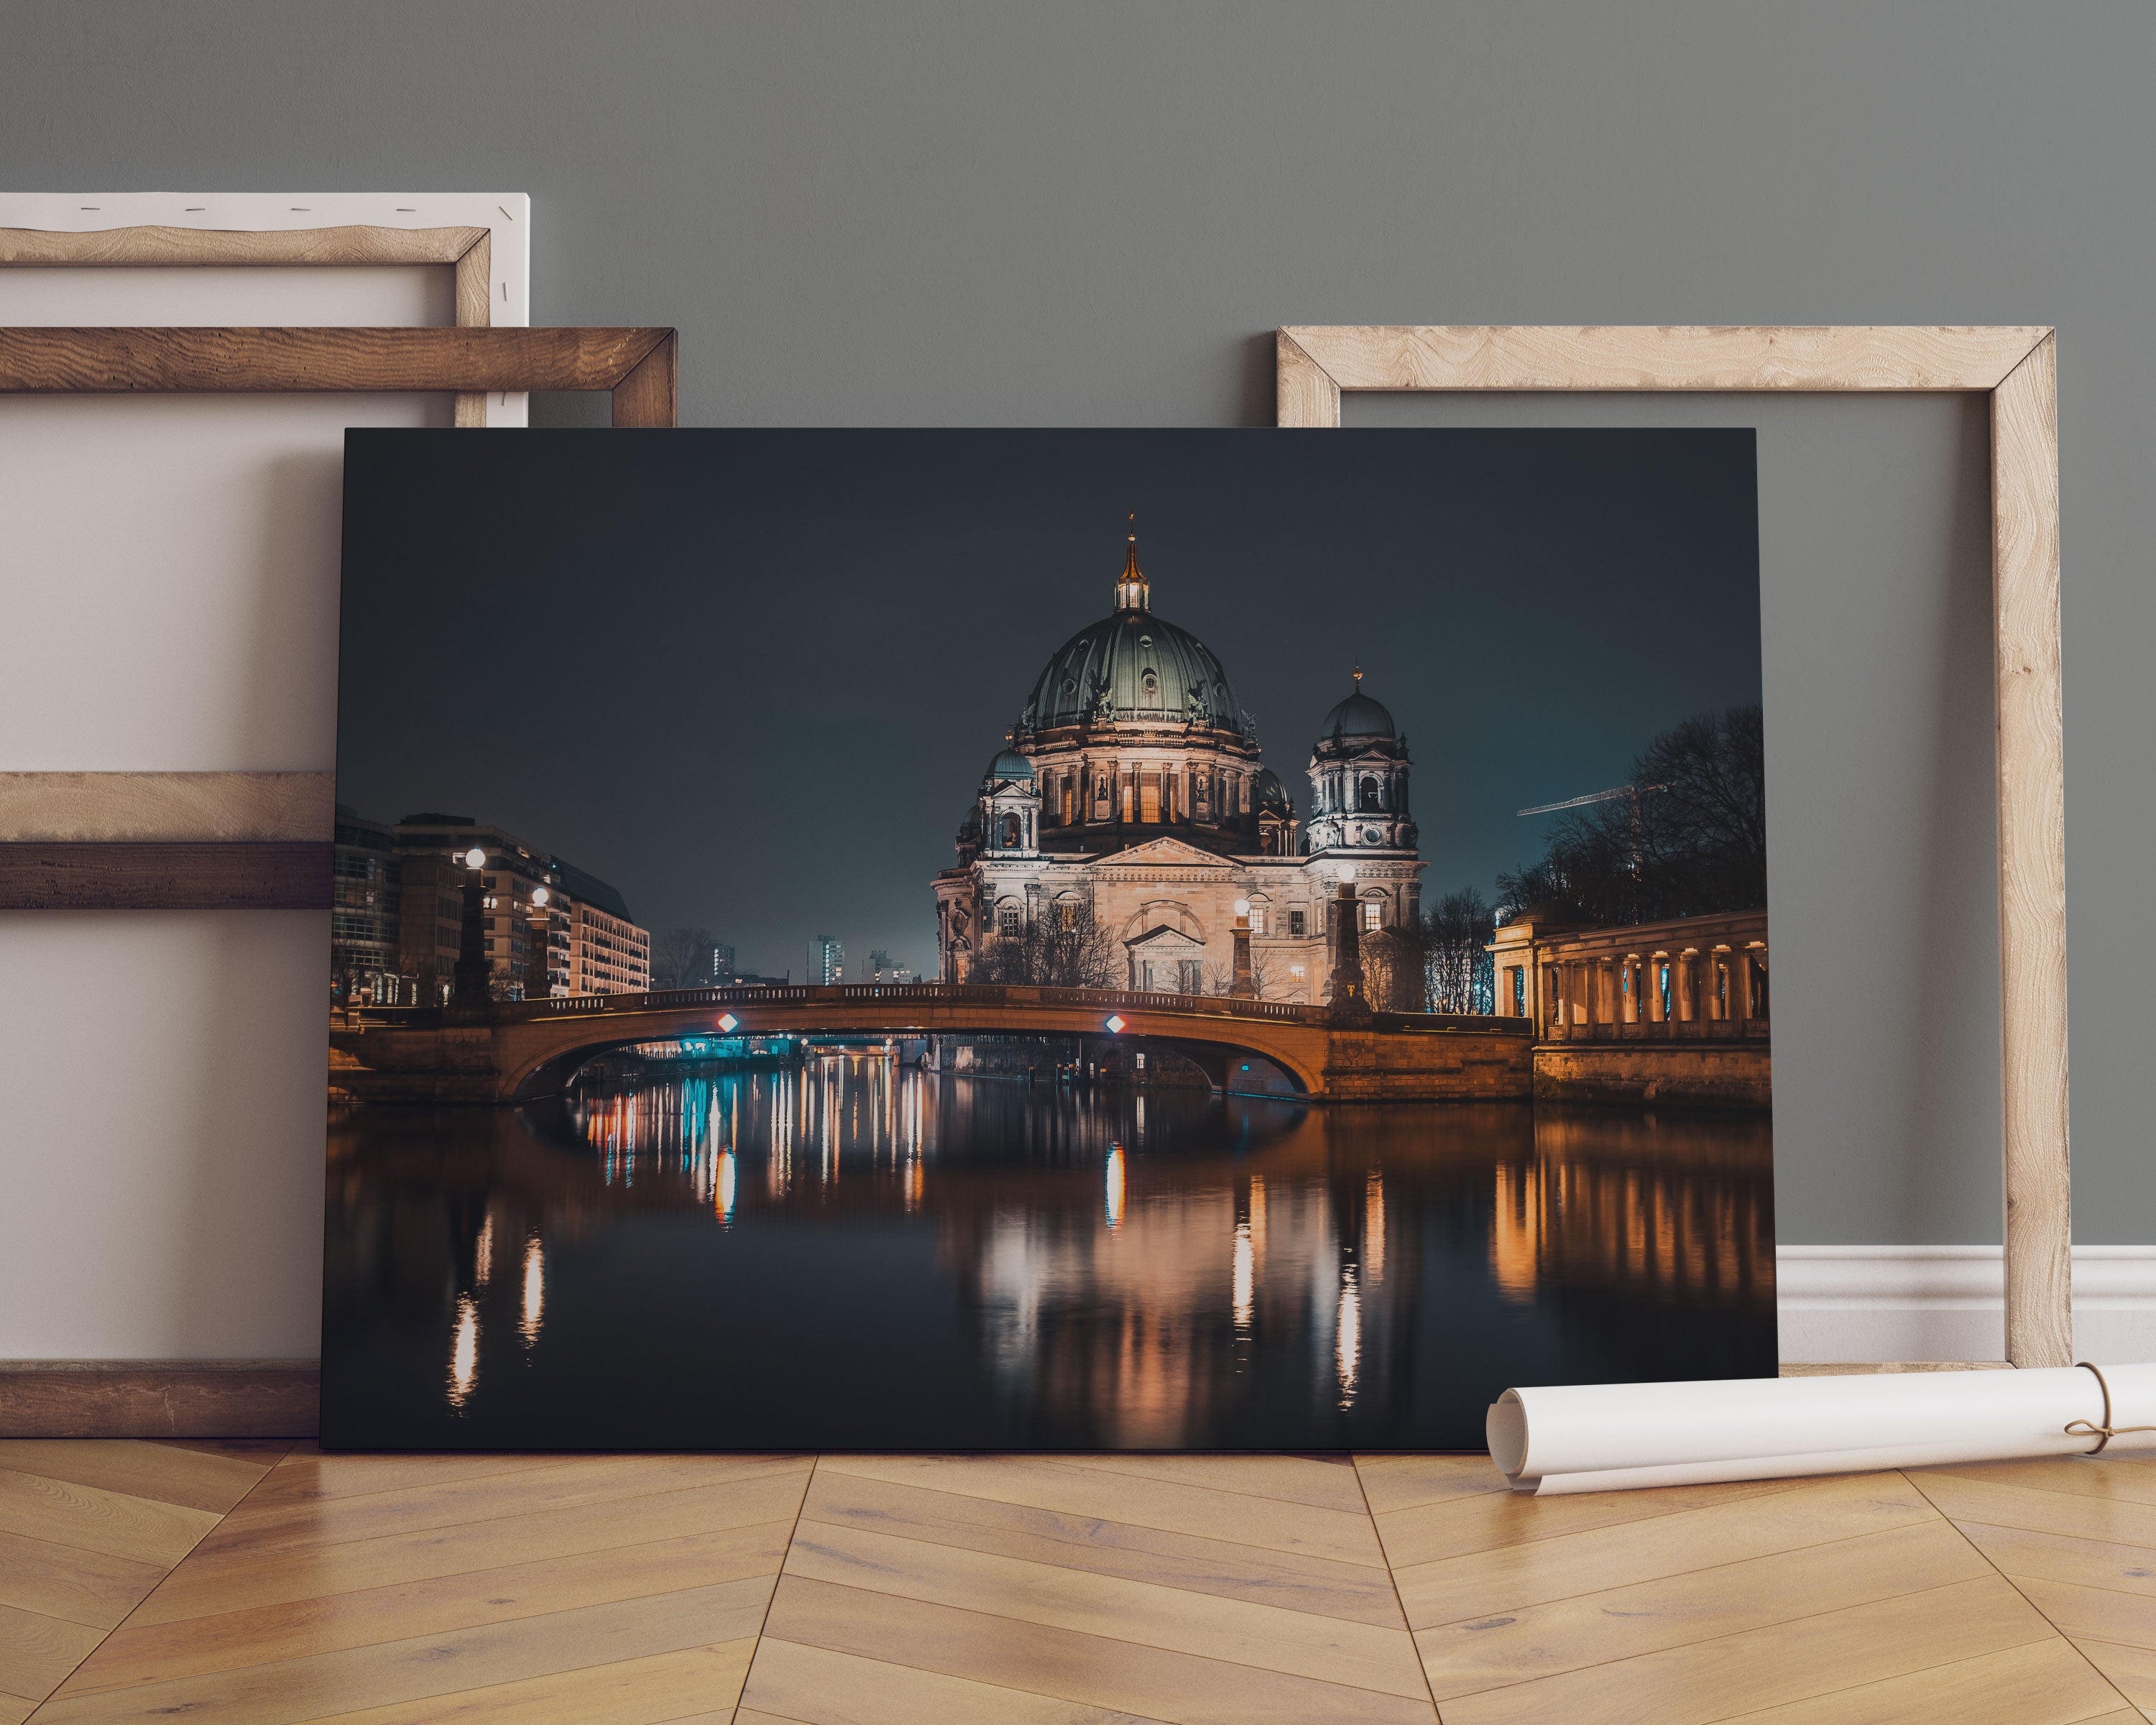
<path fill-rule="evenodd" d="M 1048 988 L 1031 983 L 776 983 L 742 988 L 666 988 L 642 994 L 567 994 L 550 1000 L 496 1000 L 487 1018 L 496 1024 L 530 1024 L 558 1018 L 630 1016 L 647 1011 L 681 1011 L 686 1007 L 845 1007 L 888 1003 L 899 1005 L 972 1005 L 972 1007 L 1076 1007 L 1097 1011 L 1143 1011 L 1179 1018 L 1231 1018 L 1272 1024 L 1330 1024 L 1330 1007 L 1296 1000 L 1248 1000 L 1233 994 L 1164 994 L 1136 988 Z M 349 1013 L 351 1029 L 369 1024 L 412 1029 L 440 1024 L 440 1007 L 375 1007 Z M 1477 1018 L 1436 1011 L 1380 1011 L 1371 1020 L 1380 1031 L 1483 1031 L 1533 1037 L 1524 1018 Z"/>

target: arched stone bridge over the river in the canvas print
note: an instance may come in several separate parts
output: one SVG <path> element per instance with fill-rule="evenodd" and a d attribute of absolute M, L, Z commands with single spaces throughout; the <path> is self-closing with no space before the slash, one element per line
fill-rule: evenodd
<path fill-rule="evenodd" d="M 496 1003 L 483 1011 L 356 1011 L 330 1029 L 330 1087 L 356 1102 L 522 1102 L 638 1041 L 709 1035 L 1108 1035 L 1173 1048 L 1216 1089 L 1231 1063 L 1272 1061 L 1324 1102 L 1526 1100 L 1533 1024 L 1520 1018 L 1376 1013 L 1108 988 L 910 983 L 683 988 Z M 731 1018 L 727 1026 L 720 1020 Z"/>

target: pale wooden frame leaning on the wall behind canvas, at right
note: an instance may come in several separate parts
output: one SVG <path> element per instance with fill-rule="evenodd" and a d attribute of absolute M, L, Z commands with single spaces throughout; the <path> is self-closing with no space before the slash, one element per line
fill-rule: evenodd
<path fill-rule="evenodd" d="M 1992 408 L 2007 1363 L 2074 1363 L 2057 334 L 1999 328 L 1287 326 L 1279 423 L 1345 390 L 1936 390 Z"/>

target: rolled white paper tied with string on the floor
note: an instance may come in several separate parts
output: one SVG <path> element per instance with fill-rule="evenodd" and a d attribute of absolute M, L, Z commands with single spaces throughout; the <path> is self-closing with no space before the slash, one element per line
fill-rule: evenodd
<path fill-rule="evenodd" d="M 2119 1430 L 2156 1425 L 2156 1365 L 1509 1389 L 1485 1430 L 1516 1492 L 1557 1496 L 2087 1455 L 2100 1425 L 2106 1455 L 2156 1449 L 2156 1432 Z"/>

